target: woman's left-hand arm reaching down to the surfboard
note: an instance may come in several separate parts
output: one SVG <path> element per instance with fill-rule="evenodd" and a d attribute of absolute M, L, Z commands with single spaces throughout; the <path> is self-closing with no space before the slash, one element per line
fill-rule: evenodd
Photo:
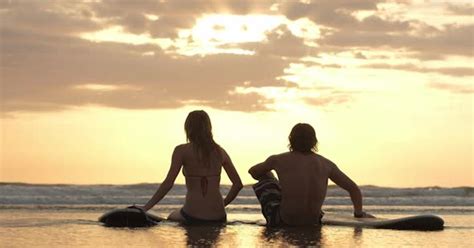
<path fill-rule="evenodd" d="M 157 204 L 173 187 L 174 180 L 178 176 L 179 171 L 181 170 L 182 163 L 182 154 L 179 146 L 177 146 L 173 151 L 173 156 L 171 158 L 171 167 L 168 171 L 168 175 L 165 180 L 160 184 L 160 187 L 155 192 L 153 197 L 142 207 L 144 211 L 150 210 L 155 204 Z"/>

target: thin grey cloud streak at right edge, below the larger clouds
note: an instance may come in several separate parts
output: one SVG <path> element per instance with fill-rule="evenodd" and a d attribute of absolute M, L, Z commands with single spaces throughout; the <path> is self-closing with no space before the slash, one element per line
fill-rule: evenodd
<path fill-rule="evenodd" d="M 414 71 L 420 73 L 439 73 L 445 74 L 453 77 L 466 77 L 474 76 L 473 67 L 420 67 L 414 64 L 399 64 L 399 65 L 390 65 L 390 64 L 368 64 L 362 66 L 363 68 L 373 68 L 373 69 L 389 69 L 389 70 L 403 70 L 403 71 Z"/>

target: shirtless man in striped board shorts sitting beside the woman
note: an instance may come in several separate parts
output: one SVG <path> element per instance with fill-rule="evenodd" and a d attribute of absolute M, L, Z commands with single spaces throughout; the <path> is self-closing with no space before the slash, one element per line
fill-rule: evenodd
<path fill-rule="evenodd" d="M 270 156 L 249 170 L 259 180 L 253 187 L 267 225 L 321 224 L 328 178 L 349 192 L 355 217 L 374 217 L 362 210 L 362 194 L 357 184 L 329 159 L 316 154 L 318 140 L 312 126 L 295 125 L 289 141 L 289 152 Z"/>

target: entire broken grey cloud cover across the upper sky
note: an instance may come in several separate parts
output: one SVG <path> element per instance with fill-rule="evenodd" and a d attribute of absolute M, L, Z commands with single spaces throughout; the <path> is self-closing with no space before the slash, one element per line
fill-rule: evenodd
<path fill-rule="evenodd" d="M 378 4 L 382 2 L 1 2 L 2 111 L 59 110 L 86 104 L 129 109 L 202 104 L 227 110 L 268 110 L 276 98 L 268 98 L 263 91 L 243 93 L 235 89 L 296 88 L 283 78 L 291 63 L 305 63 L 305 57 L 327 55 L 324 64 L 317 64 L 320 69 L 345 66 L 335 55 L 347 51 L 355 58 L 367 61 L 372 58 L 372 50 L 400 51 L 420 59 L 439 59 L 447 55 L 472 57 L 474 25 L 434 27 L 423 20 L 400 19 L 388 9 L 379 10 Z M 447 10 L 464 13 L 467 7 L 447 5 Z M 361 18 L 357 15 L 360 12 L 368 14 Z M 268 31 L 262 42 L 204 44 L 193 40 L 192 35 L 179 35 L 182 30 L 189 31 L 196 20 L 206 14 L 272 14 L 278 18 L 284 15 L 289 20 L 308 18 L 316 24 L 314 33 L 317 35 L 311 38 L 295 35 L 290 27 L 296 24 L 283 17 L 282 25 Z M 166 42 L 170 44 L 160 48 L 151 43 L 92 42 L 78 37 L 80 33 L 116 26 L 127 33 L 167 38 Z M 106 35 L 114 40 L 114 34 Z M 191 48 L 221 44 L 217 48 L 250 50 L 254 55 L 223 54 L 216 49 L 218 52 L 211 55 L 183 56 L 180 54 L 184 50 L 183 44 Z M 425 68 L 408 63 L 367 66 L 472 76 L 472 69 L 468 67 Z M 442 88 L 440 85 L 433 87 Z M 319 98 L 303 98 L 309 104 L 322 106 L 348 102 L 352 94 L 354 92 L 331 88 L 321 91 Z"/>

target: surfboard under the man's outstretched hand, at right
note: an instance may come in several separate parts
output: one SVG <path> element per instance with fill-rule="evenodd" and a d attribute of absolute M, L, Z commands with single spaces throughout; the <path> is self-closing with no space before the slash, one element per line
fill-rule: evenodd
<path fill-rule="evenodd" d="M 444 220 L 436 215 L 423 214 L 402 218 L 354 218 L 342 214 L 326 213 L 323 225 L 349 226 L 361 228 L 395 229 L 395 230 L 443 230 Z"/>

